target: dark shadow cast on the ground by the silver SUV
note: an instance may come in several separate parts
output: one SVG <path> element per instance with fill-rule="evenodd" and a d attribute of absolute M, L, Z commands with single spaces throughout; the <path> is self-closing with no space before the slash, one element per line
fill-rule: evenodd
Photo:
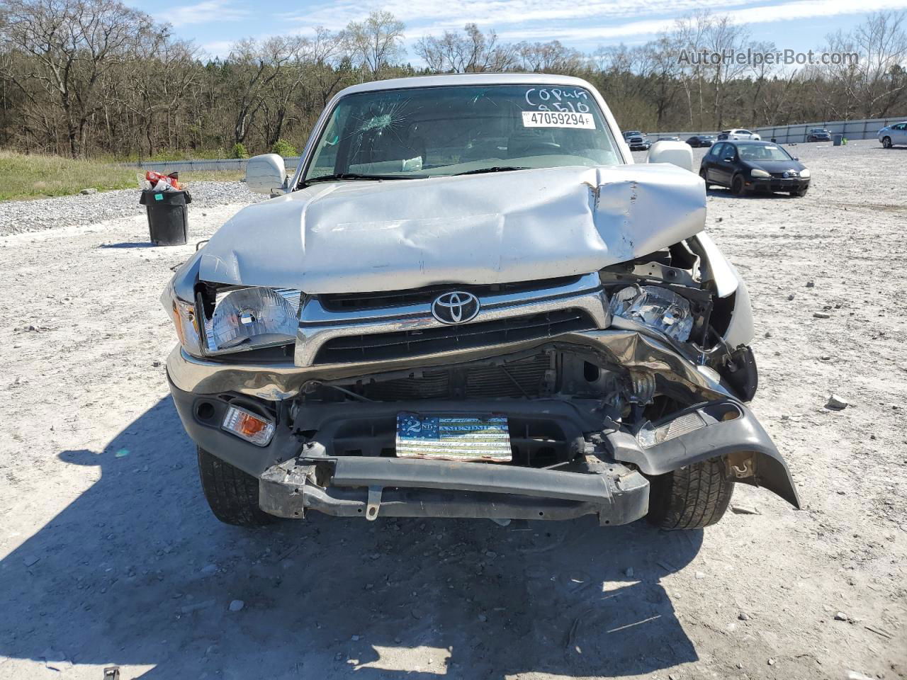
<path fill-rule="evenodd" d="M 102 452 L 60 457 L 101 476 L 0 562 L 0 656 L 153 665 L 141 677 L 161 680 L 620 676 L 697 660 L 660 578 L 701 531 L 318 515 L 228 527 L 170 398 Z"/>

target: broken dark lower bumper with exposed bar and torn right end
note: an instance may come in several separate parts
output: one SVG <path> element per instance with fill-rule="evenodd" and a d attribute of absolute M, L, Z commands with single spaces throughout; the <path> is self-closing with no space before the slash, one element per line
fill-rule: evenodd
<path fill-rule="evenodd" d="M 672 414 L 687 418 L 682 432 L 654 445 L 609 430 L 593 400 L 538 399 L 318 404 L 300 409 L 293 429 L 278 416 L 273 440 L 258 447 L 219 427 L 227 404 L 247 397 L 186 393 L 173 384 L 171 392 L 192 440 L 256 477 L 262 510 L 278 517 L 300 518 L 311 510 L 369 520 L 378 514 L 527 520 L 593 514 L 602 525 L 618 525 L 648 512 L 649 477 L 717 457 L 727 461 L 735 481 L 762 486 L 799 508 L 785 461 L 756 417 L 731 398 Z M 554 423 L 575 457 L 557 470 L 398 459 L 395 415 L 413 410 L 494 411 L 512 423 Z M 688 426 L 691 414 L 699 418 L 695 428 Z"/>

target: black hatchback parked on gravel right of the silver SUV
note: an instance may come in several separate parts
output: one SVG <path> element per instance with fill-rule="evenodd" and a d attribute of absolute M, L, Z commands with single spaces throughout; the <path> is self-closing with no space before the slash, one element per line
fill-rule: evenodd
<path fill-rule="evenodd" d="M 718 141 L 702 157 L 699 177 L 729 187 L 736 196 L 750 191 L 786 191 L 805 196 L 810 171 L 778 144 L 770 141 Z"/>

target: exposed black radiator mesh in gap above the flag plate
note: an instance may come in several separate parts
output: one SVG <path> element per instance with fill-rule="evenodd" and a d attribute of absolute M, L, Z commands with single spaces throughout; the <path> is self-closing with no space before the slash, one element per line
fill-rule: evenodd
<path fill-rule="evenodd" d="M 507 364 L 426 371 L 421 375 L 363 385 L 375 402 L 414 399 L 539 397 L 551 391 L 551 356 L 539 354 Z"/>

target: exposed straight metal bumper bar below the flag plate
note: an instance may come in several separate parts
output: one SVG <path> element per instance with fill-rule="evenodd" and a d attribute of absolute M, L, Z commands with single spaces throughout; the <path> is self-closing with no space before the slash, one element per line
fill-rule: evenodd
<path fill-rule="evenodd" d="M 571 520 L 628 524 L 649 511 L 649 481 L 638 471 L 598 461 L 572 471 L 494 463 L 304 456 L 259 478 L 262 510 L 300 518 L 309 510 L 338 517 Z M 318 478 L 327 479 L 317 483 Z"/>

